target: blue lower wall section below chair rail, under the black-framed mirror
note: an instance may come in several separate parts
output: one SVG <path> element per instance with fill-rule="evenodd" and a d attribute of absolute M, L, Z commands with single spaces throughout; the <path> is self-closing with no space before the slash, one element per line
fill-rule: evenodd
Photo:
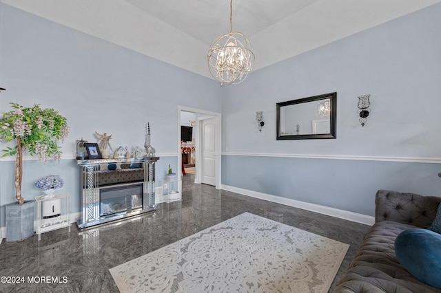
<path fill-rule="evenodd" d="M 224 155 L 222 168 L 229 186 L 371 216 L 378 189 L 441 195 L 440 164 Z"/>

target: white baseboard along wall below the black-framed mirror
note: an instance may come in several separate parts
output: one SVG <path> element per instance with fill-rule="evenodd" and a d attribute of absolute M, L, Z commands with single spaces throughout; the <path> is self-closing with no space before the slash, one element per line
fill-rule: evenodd
<path fill-rule="evenodd" d="M 249 191 L 247 189 L 237 188 L 234 186 L 223 185 L 222 189 L 225 191 L 231 191 L 233 193 L 240 193 L 241 195 L 256 197 L 258 199 L 265 199 L 269 202 L 275 202 L 277 204 L 285 204 L 286 206 L 301 208 L 302 210 L 310 210 L 311 212 L 320 213 L 331 217 L 337 217 L 340 219 L 346 219 L 348 221 L 354 221 L 360 224 L 371 226 L 375 223 L 375 217 L 353 213 L 347 210 L 339 210 L 338 208 L 330 208 L 329 206 L 310 204 L 309 202 L 300 202 L 296 199 L 289 199 L 285 197 L 279 197 L 276 195 L 269 195 L 266 193 L 258 193 L 256 191 Z"/>

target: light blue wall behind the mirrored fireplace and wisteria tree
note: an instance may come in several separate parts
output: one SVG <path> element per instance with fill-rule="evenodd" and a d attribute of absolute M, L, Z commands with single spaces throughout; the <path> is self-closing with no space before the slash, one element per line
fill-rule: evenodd
<path fill-rule="evenodd" d="M 148 38 L 147 35 L 139 36 Z M 143 146 L 150 122 L 152 145 L 163 158 L 156 172 L 176 170 L 178 105 L 221 112 L 221 88 L 214 80 L 83 34 L 0 3 L 0 111 L 9 102 L 57 109 L 68 118 L 70 135 L 61 164 L 23 162 L 23 196 L 39 191 L 39 177 L 58 174 L 72 193 L 72 212 L 79 211 L 75 140 L 98 142 L 94 131 L 112 135 L 110 143 Z M 8 144 L 1 144 L 4 149 Z M 0 160 L 0 227 L 4 204 L 14 202 L 14 162 Z"/>

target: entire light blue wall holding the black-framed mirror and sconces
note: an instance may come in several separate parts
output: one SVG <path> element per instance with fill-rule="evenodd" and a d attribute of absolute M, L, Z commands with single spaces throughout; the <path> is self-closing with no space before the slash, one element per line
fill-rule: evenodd
<path fill-rule="evenodd" d="M 365 215 L 373 215 L 379 188 L 440 195 L 440 15 L 437 4 L 224 87 L 223 184 Z M 333 91 L 337 139 L 276 140 L 276 102 Z M 357 113 L 362 94 L 372 102 L 365 127 Z M 304 156 L 319 159 L 291 158 Z M 437 164 L 420 163 L 427 161 Z"/>

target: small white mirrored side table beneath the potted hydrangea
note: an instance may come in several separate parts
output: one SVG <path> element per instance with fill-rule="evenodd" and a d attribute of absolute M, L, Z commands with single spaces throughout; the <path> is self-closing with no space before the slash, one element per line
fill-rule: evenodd
<path fill-rule="evenodd" d="M 57 193 L 35 197 L 37 201 L 37 234 L 39 241 L 41 233 L 59 228 L 69 228 L 70 232 L 70 194 Z M 50 208 L 51 215 L 45 216 L 44 209 Z M 59 211 L 56 209 L 59 208 Z M 56 213 L 56 214 L 54 214 Z"/>

